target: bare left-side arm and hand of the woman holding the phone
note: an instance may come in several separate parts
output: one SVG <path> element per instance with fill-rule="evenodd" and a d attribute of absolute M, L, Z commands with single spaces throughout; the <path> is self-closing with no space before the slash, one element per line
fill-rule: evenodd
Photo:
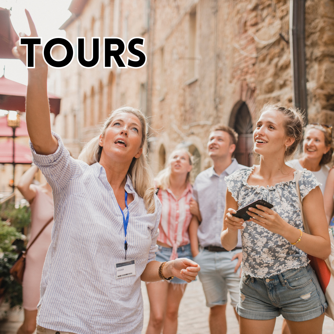
<path fill-rule="evenodd" d="M 232 216 L 232 213 L 238 209 L 238 202 L 232 197 L 232 194 L 226 190 L 226 204 L 223 218 L 223 229 L 220 233 L 222 246 L 230 251 L 238 243 L 238 229 L 243 229 L 243 219 Z"/>

